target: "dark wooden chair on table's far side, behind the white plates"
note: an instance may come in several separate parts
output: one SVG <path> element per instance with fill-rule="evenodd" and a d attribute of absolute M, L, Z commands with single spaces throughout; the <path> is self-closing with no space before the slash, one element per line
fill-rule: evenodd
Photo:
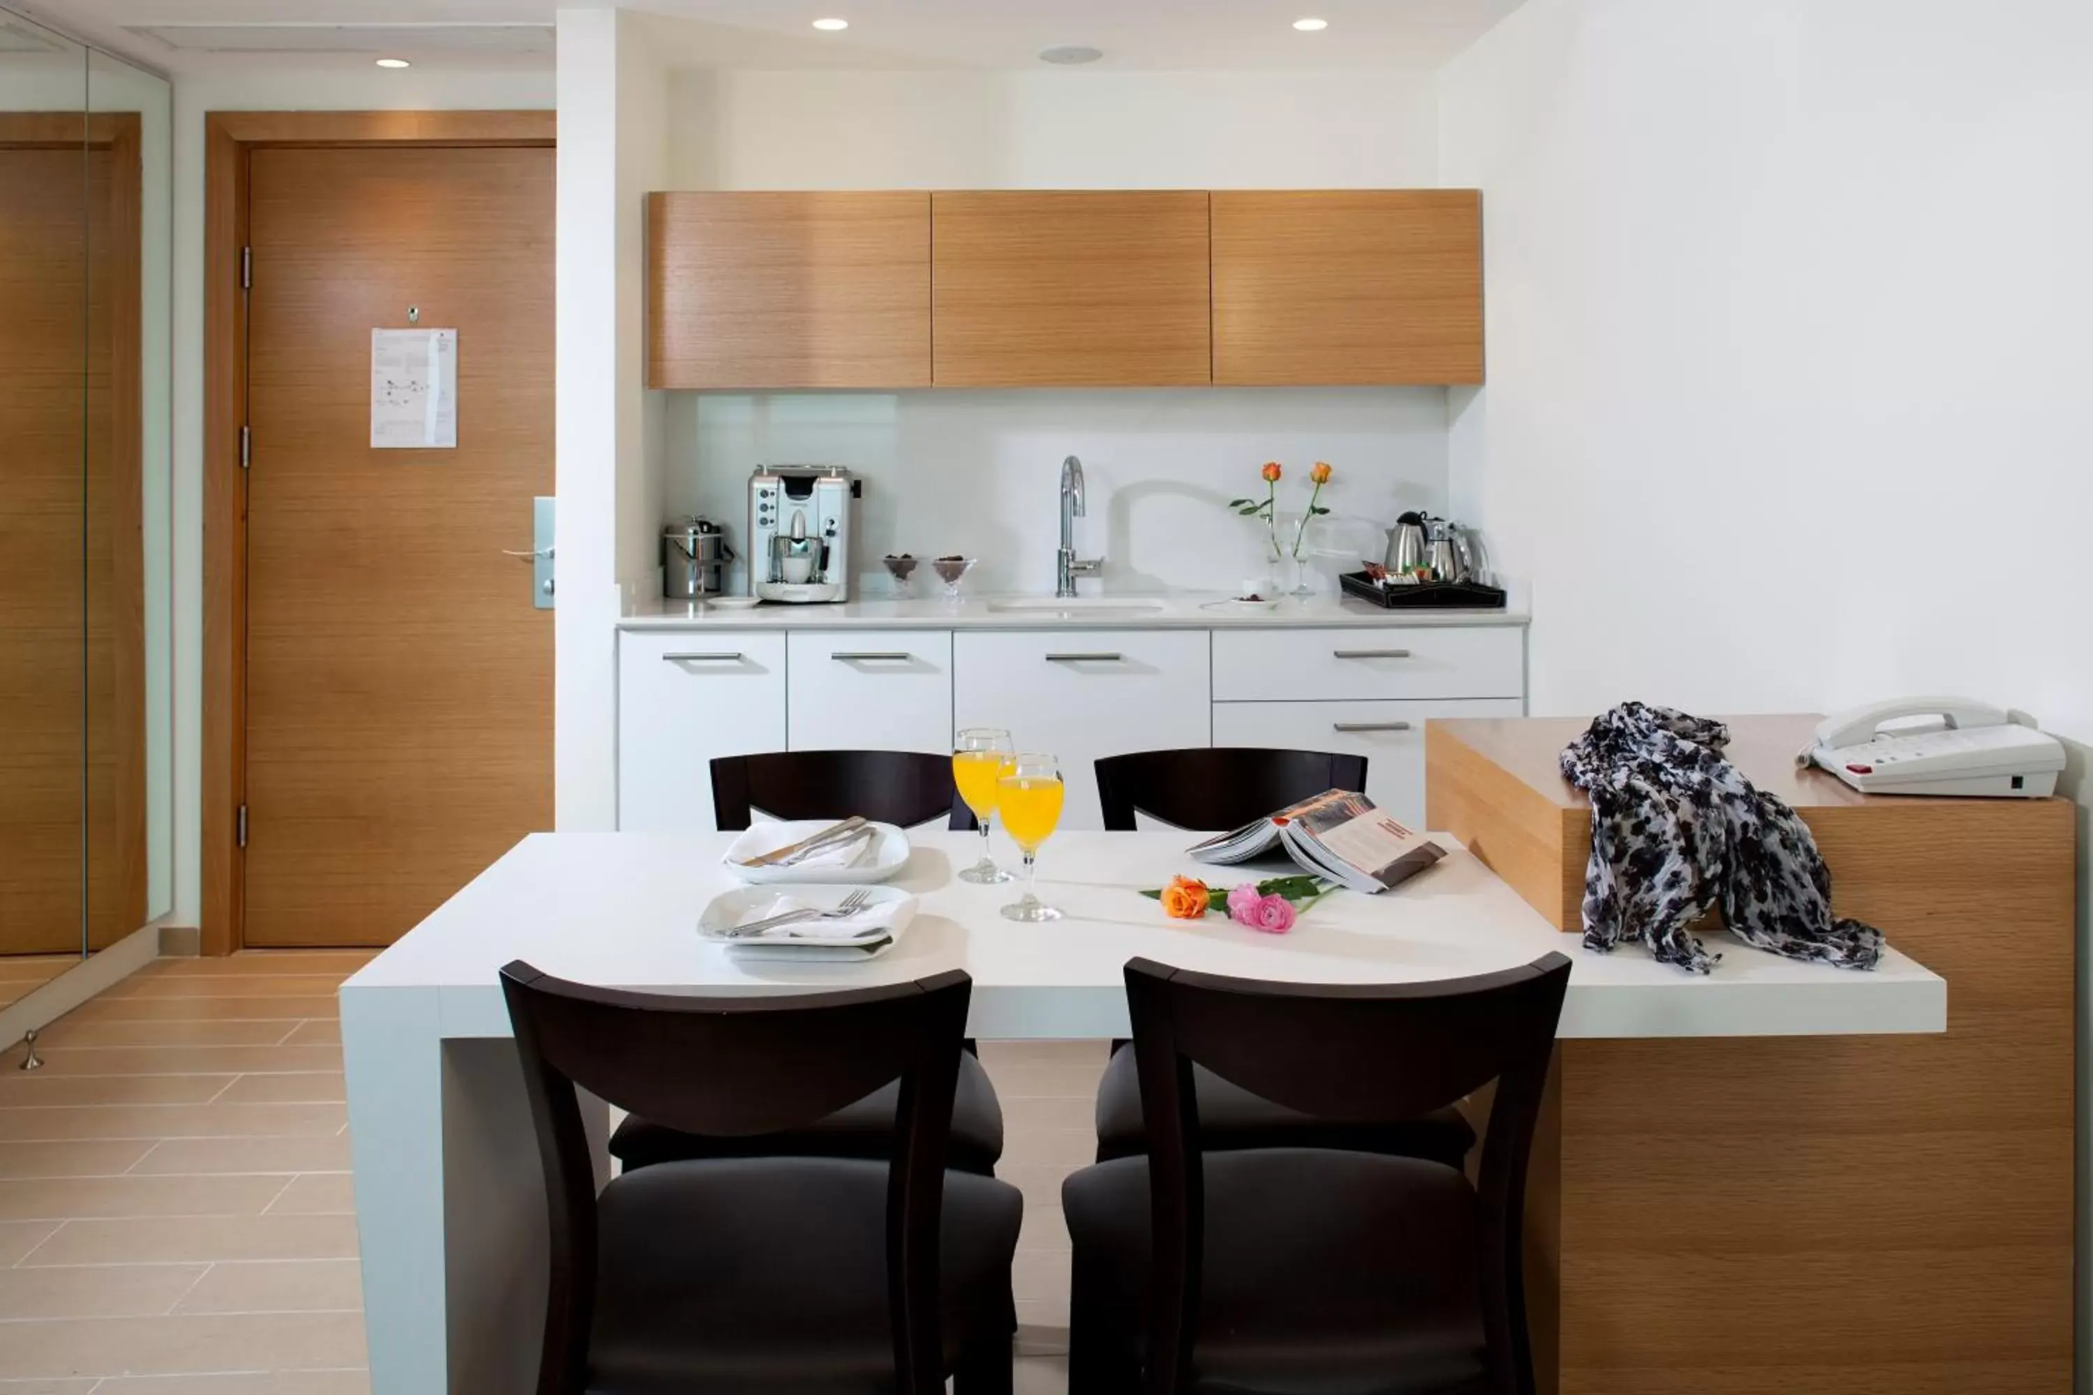
<path fill-rule="evenodd" d="M 973 811 L 952 786 L 952 757 L 921 751 L 772 751 L 722 755 L 712 761 L 712 807 L 722 830 L 747 828 L 756 809 L 774 818 L 848 818 L 862 814 L 908 828 L 948 818 L 952 828 L 977 828 Z M 672 1129 L 634 1111 L 611 1134 L 611 1157 L 626 1171 L 653 1163 L 718 1157 L 856 1157 L 883 1159 L 894 1146 L 894 1106 L 887 1083 L 804 1129 L 762 1138 L 705 1138 Z M 950 1165 L 994 1175 L 1003 1157 L 1003 1106 L 996 1088 L 973 1056 L 959 1062 L 959 1102 L 952 1106 Z"/>

